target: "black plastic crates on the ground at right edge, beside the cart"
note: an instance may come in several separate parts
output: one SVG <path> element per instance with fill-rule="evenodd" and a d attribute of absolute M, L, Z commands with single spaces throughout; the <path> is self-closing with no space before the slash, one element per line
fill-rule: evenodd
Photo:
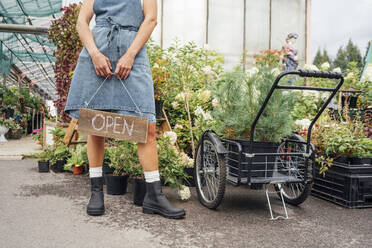
<path fill-rule="evenodd" d="M 325 176 L 315 164 L 312 195 L 346 208 L 372 207 L 372 166 L 333 164 Z"/>

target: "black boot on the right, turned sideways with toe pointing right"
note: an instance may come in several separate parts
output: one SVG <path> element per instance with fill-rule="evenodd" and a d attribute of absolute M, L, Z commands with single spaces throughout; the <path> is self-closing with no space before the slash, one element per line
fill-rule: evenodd
<path fill-rule="evenodd" d="M 161 189 L 160 181 L 146 183 L 146 195 L 143 200 L 143 213 L 160 214 L 165 218 L 181 219 L 185 217 L 185 210 L 169 203 Z"/>

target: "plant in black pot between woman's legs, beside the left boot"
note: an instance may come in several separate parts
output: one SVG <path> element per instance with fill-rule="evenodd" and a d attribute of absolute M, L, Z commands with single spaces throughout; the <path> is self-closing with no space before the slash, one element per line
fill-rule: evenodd
<path fill-rule="evenodd" d="M 132 146 L 133 144 L 128 141 L 121 141 L 117 147 L 107 149 L 109 166 L 115 169 L 112 174 L 104 175 L 109 195 L 124 195 L 127 192 L 129 178 L 127 168 L 135 157 L 131 152 Z"/>

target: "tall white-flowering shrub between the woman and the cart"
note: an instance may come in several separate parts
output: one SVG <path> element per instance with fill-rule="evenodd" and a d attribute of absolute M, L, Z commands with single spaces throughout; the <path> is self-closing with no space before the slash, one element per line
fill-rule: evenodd
<path fill-rule="evenodd" d="M 192 155 L 198 131 L 204 122 L 196 123 L 198 106 L 205 112 L 212 109 L 211 85 L 222 71 L 223 58 L 208 46 L 195 43 L 181 46 L 176 40 L 168 49 L 148 44 L 154 77 L 155 96 L 164 100 L 170 125 L 178 135 L 179 148 Z M 196 132 L 196 133 L 195 133 Z"/>

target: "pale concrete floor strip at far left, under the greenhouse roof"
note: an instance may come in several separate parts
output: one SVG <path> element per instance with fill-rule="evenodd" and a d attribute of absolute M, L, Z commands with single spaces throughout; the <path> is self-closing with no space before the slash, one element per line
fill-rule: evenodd
<path fill-rule="evenodd" d="M 31 136 L 24 136 L 19 140 L 0 142 L 0 160 L 19 160 L 23 155 L 41 152 L 41 146 Z"/>

